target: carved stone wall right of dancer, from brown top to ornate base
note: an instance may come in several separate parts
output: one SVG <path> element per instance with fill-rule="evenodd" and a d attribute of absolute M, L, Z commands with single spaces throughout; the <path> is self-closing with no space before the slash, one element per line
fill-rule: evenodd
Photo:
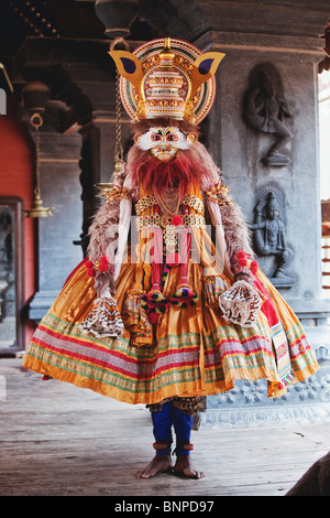
<path fill-rule="evenodd" d="M 201 9 L 201 3 L 197 3 Z M 211 3 L 215 7 L 213 2 L 205 6 L 204 23 L 210 20 Z M 212 29 L 195 42 L 204 51 L 227 54 L 217 72 L 216 102 L 204 123 L 206 144 L 249 225 L 255 223 L 255 209 L 265 199 L 265 193 L 273 192 L 279 197 L 278 218 L 289 251 L 284 276 L 274 277 L 278 267 L 276 256 L 261 255 L 255 240 L 254 250 L 262 270 L 301 320 L 320 370 L 307 381 L 289 387 L 287 395 L 277 399 L 267 398 L 264 380 L 237 381 L 233 390 L 206 399 L 198 425 L 240 428 L 279 421 L 283 424 L 329 421 L 330 301 L 321 287 L 317 88 L 318 63 L 323 54 L 321 43 L 312 36 L 322 10 L 323 24 L 329 13 L 324 2 L 319 2 L 307 15 L 307 3 L 301 1 L 297 28 L 292 2 L 263 2 L 253 8 L 246 1 L 239 2 L 240 7 L 238 2 L 217 3 Z M 274 77 L 279 78 L 290 110 L 284 123 L 292 138 L 280 150 L 288 159 L 286 164 L 263 161 L 276 141 L 275 134 L 246 123 L 248 94 L 253 85 L 261 86 L 253 80 L 260 68 L 275 71 Z"/>

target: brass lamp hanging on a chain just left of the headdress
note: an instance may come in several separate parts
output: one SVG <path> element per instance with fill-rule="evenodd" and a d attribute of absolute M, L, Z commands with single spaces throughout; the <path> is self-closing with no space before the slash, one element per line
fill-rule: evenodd
<path fill-rule="evenodd" d="M 110 51 L 114 51 L 118 44 L 124 45 L 125 50 L 129 51 L 129 44 L 123 37 L 116 37 L 111 42 Z M 116 180 L 121 176 L 124 172 L 124 161 L 123 161 L 123 147 L 121 138 L 121 99 L 120 99 L 120 74 L 118 68 L 116 69 L 116 147 L 114 147 L 114 170 L 110 182 L 97 183 L 100 192 L 98 196 L 106 196 L 107 192 L 111 190 Z"/>

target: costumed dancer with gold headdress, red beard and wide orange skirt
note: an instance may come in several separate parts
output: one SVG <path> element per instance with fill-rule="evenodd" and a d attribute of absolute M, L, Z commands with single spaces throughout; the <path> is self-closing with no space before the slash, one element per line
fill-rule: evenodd
<path fill-rule="evenodd" d="M 110 55 L 134 144 L 94 217 L 88 257 L 40 322 L 23 365 L 145 403 L 155 455 L 138 476 L 199 478 L 189 454 L 201 397 L 264 378 L 277 398 L 318 365 L 198 141 L 224 54 L 160 39 Z"/>

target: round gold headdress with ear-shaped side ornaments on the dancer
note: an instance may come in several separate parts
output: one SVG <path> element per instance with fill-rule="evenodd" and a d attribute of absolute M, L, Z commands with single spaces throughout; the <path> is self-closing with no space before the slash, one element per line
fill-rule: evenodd
<path fill-rule="evenodd" d="M 121 74 L 121 99 L 131 119 L 173 117 L 199 123 L 209 112 L 223 53 L 202 54 L 190 43 L 165 37 L 133 53 L 109 54 Z"/>

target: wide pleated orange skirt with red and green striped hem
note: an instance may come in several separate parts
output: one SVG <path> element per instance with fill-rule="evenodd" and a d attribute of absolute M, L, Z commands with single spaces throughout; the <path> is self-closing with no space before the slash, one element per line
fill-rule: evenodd
<path fill-rule="evenodd" d="M 120 312 L 134 283 L 135 268 L 130 263 L 121 268 L 117 282 Z M 176 270 L 166 279 L 166 296 L 177 288 Z M 232 389 L 237 379 L 264 378 L 268 397 L 279 397 L 288 385 L 316 373 L 318 364 L 295 313 L 261 271 L 256 277 L 277 321 L 260 311 L 251 327 L 229 324 L 219 309 L 206 304 L 202 270 L 190 263 L 197 304 L 169 304 L 154 326 L 152 345 L 135 346 L 128 330 L 120 338 L 97 338 L 79 331 L 96 300 L 94 279 L 81 263 L 40 322 L 23 366 L 128 403 L 215 395 Z"/>

